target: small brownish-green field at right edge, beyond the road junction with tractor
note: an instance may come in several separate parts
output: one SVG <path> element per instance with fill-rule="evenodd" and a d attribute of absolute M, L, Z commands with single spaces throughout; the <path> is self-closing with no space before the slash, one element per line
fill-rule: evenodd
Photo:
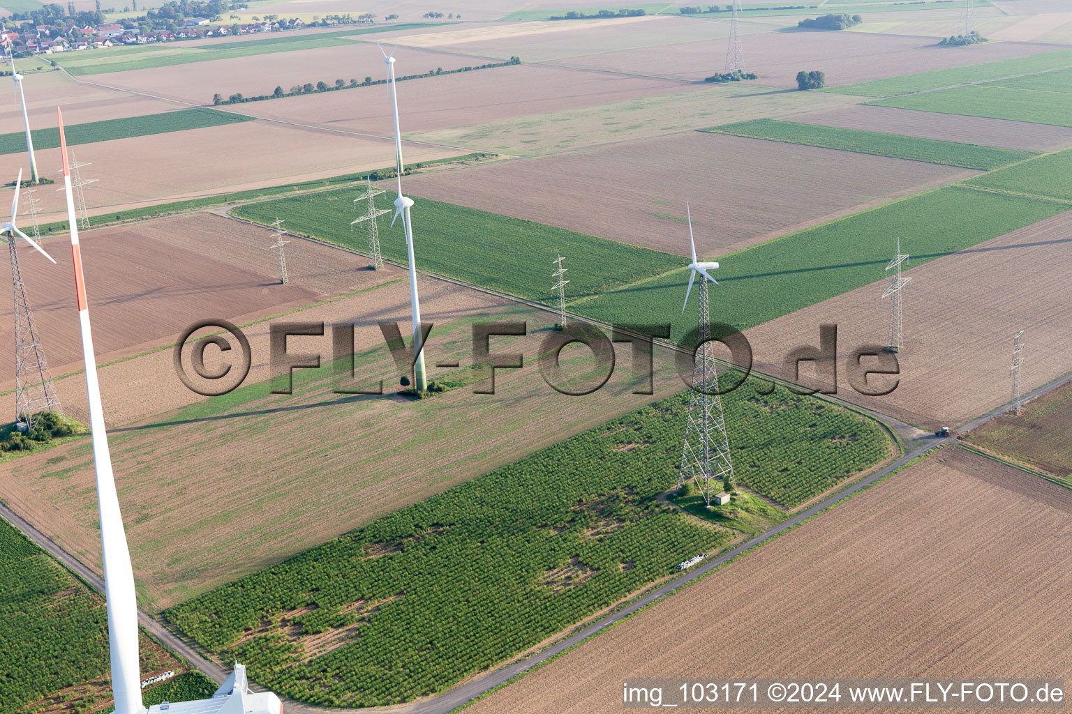
<path fill-rule="evenodd" d="M 1025 348 L 1026 349 L 1026 348 Z M 972 429 L 968 440 L 988 451 L 1068 478 L 1072 475 L 1072 385 L 1064 384 Z"/>

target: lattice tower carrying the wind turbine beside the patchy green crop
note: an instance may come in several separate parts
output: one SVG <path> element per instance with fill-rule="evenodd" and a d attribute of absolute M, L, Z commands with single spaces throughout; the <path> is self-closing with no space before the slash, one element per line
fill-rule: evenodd
<path fill-rule="evenodd" d="M 733 489 L 733 462 L 730 459 L 730 439 L 726 434 L 723 398 L 718 394 L 718 370 L 715 367 L 711 343 L 708 280 L 700 275 L 700 349 L 693 366 L 693 393 L 688 401 L 685 443 L 681 454 L 678 484 L 695 481 L 703 500 L 723 490 L 723 484 Z"/>

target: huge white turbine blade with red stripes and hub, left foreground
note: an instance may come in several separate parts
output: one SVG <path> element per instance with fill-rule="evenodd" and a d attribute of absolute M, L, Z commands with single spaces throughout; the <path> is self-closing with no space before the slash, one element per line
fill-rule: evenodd
<path fill-rule="evenodd" d="M 145 714 L 147 710 L 142 701 L 142 681 L 138 674 L 134 569 L 131 566 L 126 534 L 119 511 L 119 496 L 116 492 L 111 456 L 108 453 L 108 437 L 104 427 L 104 408 L 101 404 L 93 336 L 90 332 L 89 308 L 86 303 L 86 282 L 81 270 L 78 219 L 75 214 L 66 137 L 63 134 L 63 115 L 59 108 L 56 112 L 59 118 L 60 153 L 63 157 L 63 188 L 66 193 L 68 223 L 71 230 L 75 299 L 81 328 L 81 354 L 86 365 L 86 394 L 89 400 L 93 468 L 96 472 L 96 505 L 101 521 L 101 556 L 104 563 L 104 596 L 107 601 L 108 644 L 111 659 L 111 693 L 115 697 L 115 714 Z M 17 228 L 14 230 L 21 234 Z M 162 710 L 162 707 L 166 709 Z M 211 698 L 154 704 L 148 711 L 150 714 L 160 714 L 162 711 L 167 714 L 280 714 L 280 708 L 279 697 L 274 694 L 270 692 L 254 694 L 250 690 L 245 668 L 236 663 L 230 677 Z"/>

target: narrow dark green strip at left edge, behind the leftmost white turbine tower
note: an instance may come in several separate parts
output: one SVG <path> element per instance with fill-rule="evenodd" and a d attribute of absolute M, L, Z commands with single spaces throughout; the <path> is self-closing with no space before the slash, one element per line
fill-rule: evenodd
<path fill-rule="evenodd" d="M 220 126 L 221 124 L 234 124 L 252 120 L 253 117 L 236 115 L 229 111 L 219 111 L 217 109 L 179 109 L 178 111 L 164 111 L 158 115 L 143 115 L 140 117 L 124 117 L 122 119 L 106 119 L 104 121 L 91 121 L 84 124 L 72 124 L 64 127 L 64 133 L 66 134 L 68 146 L 76 146 L 79 143 L 110 141 L 111 139 L 129 139 L 134 136 L 149 136 L 150 134 L 183 132 L 190 128 Z M 60 131 L 58 128 L 35 128 L 31 134 L 33 135 L 33 148 L 35 150 L 56 149 L 60 146 Z M 0 154 L 15 154 L 23 151 L 26 151 L 25 132 L 0 134 Z"/>

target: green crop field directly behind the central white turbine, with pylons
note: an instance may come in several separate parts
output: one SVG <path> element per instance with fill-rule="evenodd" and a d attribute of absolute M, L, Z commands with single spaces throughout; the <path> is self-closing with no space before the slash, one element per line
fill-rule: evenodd
<path fill-rule="evenodd" d="M 353 191 L 240 206 L 234 214 L 262 224 L 286 216 L 289 230 L 364 250 L 364 231 L 351 231 L 357 217 Z M 393 208 L 391 194 L 377 198 L 379 208 Z M 418 199 L 413 209 L 417 265 L 466 283 L 550 304 L 551 261 L 569 257 L 569 291 L 582 297 L 632 280 L 658 275 L 681 265 L 681 258 L 657 250 L 623 245 L 532 221 L 477 211 L 461 206 Z M 385 257 L 406 261 L 402 222 L 379 229 Z"/>

